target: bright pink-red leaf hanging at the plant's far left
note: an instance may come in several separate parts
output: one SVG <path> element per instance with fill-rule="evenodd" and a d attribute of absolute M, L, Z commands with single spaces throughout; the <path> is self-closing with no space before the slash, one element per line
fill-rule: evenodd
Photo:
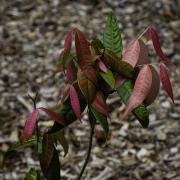
<path fill-rule="evenodd" d="M 22 133 L 22 141 L 27 141 L 32 136 L 38 118 L 39 118 L 39 110 L 35 109 L 26 120 L 24 130 Z"/>

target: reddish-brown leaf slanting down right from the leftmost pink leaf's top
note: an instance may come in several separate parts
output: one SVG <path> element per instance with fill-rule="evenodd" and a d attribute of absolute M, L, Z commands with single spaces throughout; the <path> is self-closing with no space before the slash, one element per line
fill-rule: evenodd
<path fill-rule="evenodd" d="M 60 114 L 58 114 L 57 112 L 54 112 L 54 111 L 52 111 L 50 109 L 46 109 L 46 108 L 43 108 L 43 107 L 38 108 L 38 109 L 44 111 L 49 117 L 51 117 L 57 123 L 62 124 L 62 125 L 65 124 L 64 118 Z"/>

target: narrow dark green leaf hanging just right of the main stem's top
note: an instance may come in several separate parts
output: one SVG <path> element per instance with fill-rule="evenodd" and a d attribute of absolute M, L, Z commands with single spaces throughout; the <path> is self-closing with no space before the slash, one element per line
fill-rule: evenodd
<path fill-rule="evenodd" d="M 108 124 L 107 118 L 103 116 L 100 112 L 96 111 L 96 109 L 94 109 L 93 107 L 90 107 L 90 110 L 92 114 L 94 115 L 95 119 L 101 124 L 105 133 L 105 137 L 107 139 L 108 134 L 109 134 L 109 124 Z"/>

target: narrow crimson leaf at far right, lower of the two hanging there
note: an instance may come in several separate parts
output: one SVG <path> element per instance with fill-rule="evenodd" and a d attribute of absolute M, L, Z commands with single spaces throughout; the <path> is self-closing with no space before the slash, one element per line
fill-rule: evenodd
<path fill-rule="evenodd" d="M 164 68 L 164 66 L 162 64 L 160 64 L 160 79 L 161 79 L 161 82 L 162 82 L 162 85 L 163 85 L 165 91 L 167 92 L 169 97 L 174 102 L 174 95 L 173 95 L 171 82 L 169 80 L 167 71 L 166 71 L 166 69 Z"/>

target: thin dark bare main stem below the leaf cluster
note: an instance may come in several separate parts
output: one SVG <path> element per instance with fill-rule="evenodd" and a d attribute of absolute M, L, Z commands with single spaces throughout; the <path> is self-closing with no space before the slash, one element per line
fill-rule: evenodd
<path fill-rule="evenodd" d="M 92 149 L 92 140 L 93 140 L 93 135 L 94 135 L 94 128 L 95 128 L 95 124 L 96 124 L 96 121 L 95 120 L 92 120 L 92 122 L 90 123 L 90 127 L 91 127 L 91 131 L 90 131 L 90 137 L 89 137 L 89 146 L 88 146 L 88 151 L 87 151 L 87 156 L 86 156 L 86 159 L 84 161 L 84 165 L 81 169 L 81 172 L 78 176 L 78 180 L 81 179 L 83 173 L 84 173 L 84 170 L 88 164 L 88 161 L 89 161 L 89 158 L 90 158 L 90 154 L 91 154 L 91 149 Z"/>

